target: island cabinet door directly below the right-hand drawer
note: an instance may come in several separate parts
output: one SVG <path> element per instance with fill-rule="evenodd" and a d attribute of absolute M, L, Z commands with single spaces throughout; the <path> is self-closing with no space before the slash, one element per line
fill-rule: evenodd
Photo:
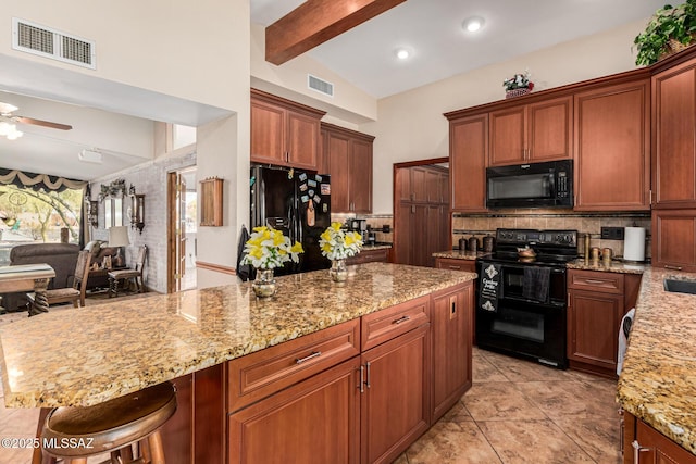
<path fill-rule="evenodd" d="M 362 354 L 362 463 L 390 463 L 430 424 L 430 324 Z M 331 461 L 325 461 L 331 462 Z"/>

